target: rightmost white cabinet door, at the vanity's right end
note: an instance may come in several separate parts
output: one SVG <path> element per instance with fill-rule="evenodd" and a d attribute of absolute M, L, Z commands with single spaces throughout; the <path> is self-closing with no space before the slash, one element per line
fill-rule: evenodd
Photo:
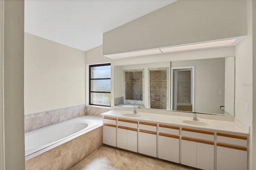
<path fill-rule="evenodd" d="M 218 145 L 218 144 L 217 144 Z M 217 170 L 246 170 L 247 151 L 217 146 Z"/>

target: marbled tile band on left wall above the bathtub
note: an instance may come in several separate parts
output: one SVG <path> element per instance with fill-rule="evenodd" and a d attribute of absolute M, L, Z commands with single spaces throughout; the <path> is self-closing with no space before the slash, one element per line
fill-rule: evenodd
<path fill-rule="evenodd" d="M 76 105 L 24 116 L 24 130 L 29 132 L 86 115 L 85 105 Z"/>

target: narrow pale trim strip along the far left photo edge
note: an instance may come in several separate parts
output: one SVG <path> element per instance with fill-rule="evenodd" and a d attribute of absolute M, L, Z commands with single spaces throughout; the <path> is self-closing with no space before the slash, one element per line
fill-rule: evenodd
<path fill-rule="evenodd" d="M 4 160 L 4 0 L 0 0 L 0 169 Z"/>

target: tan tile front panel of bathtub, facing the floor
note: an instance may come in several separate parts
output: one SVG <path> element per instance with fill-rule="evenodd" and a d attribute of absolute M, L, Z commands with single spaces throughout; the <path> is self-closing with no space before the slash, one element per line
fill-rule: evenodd
<path fill-rule="evenodd" d="M 101 146 L 102 126 L 26 160 L 25 168 L 26 170 L 67 170 Z"/>

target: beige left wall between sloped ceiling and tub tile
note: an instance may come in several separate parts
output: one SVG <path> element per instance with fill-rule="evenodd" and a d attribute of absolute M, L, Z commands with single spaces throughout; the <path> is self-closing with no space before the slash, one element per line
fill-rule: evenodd
<path fill-rule="evenodd" d="M 25 115 L 85 103 L 85 52 L 32 34 L 24 37 Z"/>

